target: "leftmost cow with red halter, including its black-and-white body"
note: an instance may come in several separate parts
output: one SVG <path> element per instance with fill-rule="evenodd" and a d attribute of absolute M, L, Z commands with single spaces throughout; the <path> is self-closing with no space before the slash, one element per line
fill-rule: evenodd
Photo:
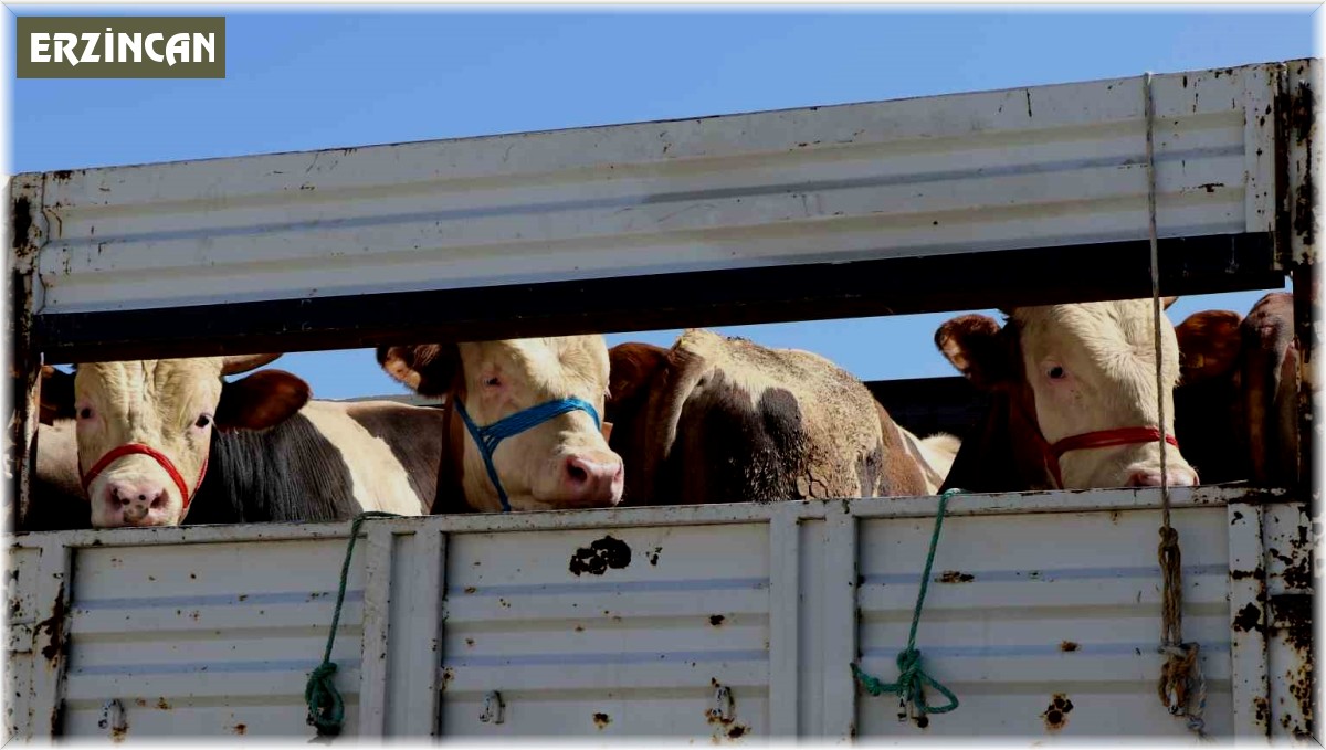
<path fill-rule="evenodd" d="M 308 383 L 281 370 L 224 380 L 277 356 L 44 372 L 42 413 L 54 424 L 38 435 L 36 490 L 68 494 L 77 481 L 94 527 L 428 513 L 442 415 L 391 402 L 310 400 Z"/>

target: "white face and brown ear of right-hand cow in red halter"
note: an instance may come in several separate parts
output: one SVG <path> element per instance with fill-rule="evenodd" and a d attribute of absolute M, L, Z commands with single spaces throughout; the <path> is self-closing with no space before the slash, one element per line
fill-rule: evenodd
<path fill-rule="evenodd" d="M 1151 299 L 1017 307 L 1002 329 L 985 315 L 963 315 L 944 323 L 935 342 L 973 384 L 1004 391 L 1014 411 L 1032 411 L 1022 423 L 1038 425 L 1040 436 L 1014 431 L 1009 440 L 1041 441 L 1049 451 L 1069 437 L 1162 427 Z M 1164 314 L 1160 345 L 1163 429 L 1172 436 L 1179 346 Z M 1166 462 L 1171 485 L 1197 482 L 1177 447 L 1166 445 Z M 1160 448 L 1152 439 L 1069 449 L 1058 468 L 1067 489 L 1159 485 Z"/>

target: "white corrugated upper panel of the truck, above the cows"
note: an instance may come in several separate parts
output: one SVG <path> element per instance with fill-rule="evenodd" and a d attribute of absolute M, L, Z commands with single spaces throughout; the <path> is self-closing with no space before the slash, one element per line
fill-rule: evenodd
<path fill-rule="evenodd" d="M 1276 65 L 1155 78 L 1162 237 L 1273 227 Z M 20 175 L 38 313 L 1147 237 L 1140 78 Z"/>

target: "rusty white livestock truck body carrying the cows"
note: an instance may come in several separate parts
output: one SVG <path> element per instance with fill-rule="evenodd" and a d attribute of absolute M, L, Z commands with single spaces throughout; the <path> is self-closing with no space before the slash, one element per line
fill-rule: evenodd
<path fill-rule="evenodd" d="M 343 579 L 347 522 L 11 525 L 7 739 L 314 737 L 305 688 L 335 615 L 339 729 L 362 738 L 1319 737 L 1321 72 L 1293 60 L 15 176 L 16 515 L 42 363 L 1286 278 L 1301 458 L 1285 486 L 949 497 L 916 633 L 926 673 L 959 700 L 935 714 L 862 676 L 899 674 L 936 497 L 375 518 Z M 1167 510 L 1181 563 L 1163 571 Z M 574 564 L 609 538 L 613 564 Z M 1176 594 L 1163 572 L 1180 575 L 1200 653 L 1188 716 L 1158 692 Z"/>

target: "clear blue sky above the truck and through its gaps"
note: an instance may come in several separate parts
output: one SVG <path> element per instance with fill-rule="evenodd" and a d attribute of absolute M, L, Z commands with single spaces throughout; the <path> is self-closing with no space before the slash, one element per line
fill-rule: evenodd
<path fill-rule="evenodd" d="M 224 15 L 227 78 L 15 80 L 9 164 L 25 172 L 365 146 L 1289 60 L 1314 53 L 1313 11 L 84 7 L 64 12 Z M 1242 313 L 1260 295 L 1191 297 L 1170 317 Z M 862 379 L 922 378 L 953 374 L 932 343 L 953 314 L 720 330 L 818 351 Z M 675 335 L 611 335 L 609 345 Z M 402 392 L 365 350 L 289 354 L 276 366 L 321 398 Z"/>

